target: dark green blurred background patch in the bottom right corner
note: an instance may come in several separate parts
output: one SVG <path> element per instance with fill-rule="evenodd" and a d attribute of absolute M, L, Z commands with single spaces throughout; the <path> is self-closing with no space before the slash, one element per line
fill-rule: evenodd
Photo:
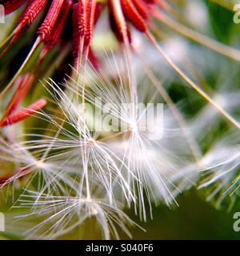
<path fill-rule="evenodd" d="M 230 212 L 216 210 L 199 197 L 198 192 L 189 190 L 178 197 L 179 207 L 169 209 L 158 206 L 154 219 L 142 225 L 147 232 L 133 231 L 134 239 L 240 239 L 235 232 L 234 213 L 240 211 L 236 205 Z M 133 216 L 133 215 L 132 215 Z"/>

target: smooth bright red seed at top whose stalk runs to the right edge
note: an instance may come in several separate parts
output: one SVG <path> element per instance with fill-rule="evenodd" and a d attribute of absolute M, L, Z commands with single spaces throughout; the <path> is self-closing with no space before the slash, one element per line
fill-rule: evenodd
<path fill-rule="evenodd" d="M 135 28 L 141 32 L 146 32 L 146 22 L 138 13 L 133 2 L 131 2 L 131 0 L 121 0 L 121 6 L 123 14 L 135 26 Z"/>

